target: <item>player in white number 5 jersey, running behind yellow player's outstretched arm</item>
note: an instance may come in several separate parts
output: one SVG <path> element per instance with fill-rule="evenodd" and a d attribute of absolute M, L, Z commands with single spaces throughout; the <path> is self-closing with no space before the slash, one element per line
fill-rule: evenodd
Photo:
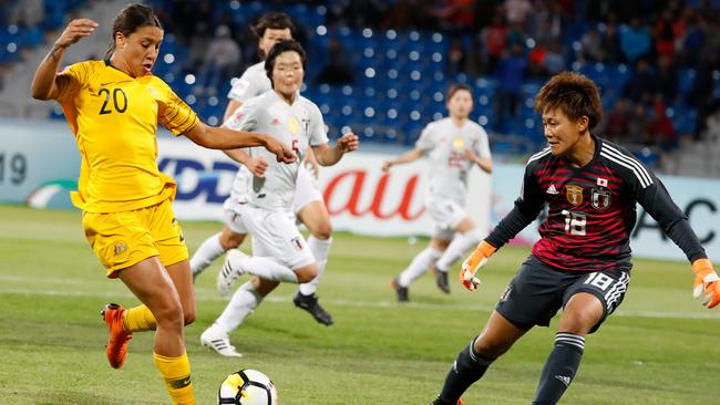
<path fill-rule="evenodd" d="M 328 146 L 322 115 L 317 105 L 299 95 L 305 75 L 306 55 L 296 41 L 278 42 L 268 54 L 266 72 L 272 90 L 243 104 L 225 122 L 228 128 L 256 128 L 290 146 L 298 156 L 308 147 L 322 166 L 335 165 L 343 154 L 358 147 L 352 133 Z M 235 232 L 253 236 L 249 257 L 229 250 L 218 274 L 218 290 L 229 292 L 243 274 L 255 278 L 235 291 L 220 316 L 200 335 L 203 345 L 225 356 L 239 356 L 229 343 L 229 333 L 258 307 L 263 298 L 281 281 L 306 283 L 318 274 L 318 262 L 287 212 L 292 207 L 301 160 L 282 167 L 264 150 L 249 148 L 251 157 L 263 157 L 267 168 L 253 175 L 238 196 L 232 218 Z M 247 170 L 247 168 L 245 169 Z"/>

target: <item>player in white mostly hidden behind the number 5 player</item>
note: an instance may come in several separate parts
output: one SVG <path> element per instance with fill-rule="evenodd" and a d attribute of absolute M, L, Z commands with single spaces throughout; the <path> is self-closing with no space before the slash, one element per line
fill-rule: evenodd
<path fill-rule="evenodd" d="M 265 13 L 257 24 L 253 27 L 253 31 L 258 38 L 258 51 L 261 59 L 265 60 L 272 45 L 278 41 L 292 39 L 294 30 L 292 21 L 287 14 L 276 11 Z M 225 120 L 250 98 L 270 90 L 270 79 L 265 72 L 265 61 L 251 65 L 243 73 L 240 79 L 233 82 L 233 87 L 228 94 L 229 103 L 225 111 Z M 233 228 L 232 221 L 232 218 L 236 215 L 237 198 L 247 183 L 247 176 L 263 176 L 267 168 L 267 162 L 261 156 L 250 156 L 241 150 L 236 152 L 234 158 L 245 165 L 248 170 L 237 173 L 230 197 L 225 201 L 223 207 L 225 228 L 222 232 L 207 238 L 193 255 L 191 259 L 193 277 L 197 277 L 213 260 L 223 256 L 227 250 L 239 247 L 243 242 L 244 236 Z M 332 242 L 332 226 L 330 225 L 330 214 L 325 206 L 322 194 L 315 180 L 318 175 L 318 164 L 312 153 L 307 154 L 306 163 L 311 166 L 312 173 L 305 166 L 301 167 L 292 202 L 292 212 L 310 231 L 308 246 L 318 260 L 318 277 L 310 282 L 300 284 L 292 302 L 296 307 L 308 311 L 316 321 L 330 325 L 333 322 L 332 316 L 319 304 L 316 291 L 328 261 L 328 253 Z"/>

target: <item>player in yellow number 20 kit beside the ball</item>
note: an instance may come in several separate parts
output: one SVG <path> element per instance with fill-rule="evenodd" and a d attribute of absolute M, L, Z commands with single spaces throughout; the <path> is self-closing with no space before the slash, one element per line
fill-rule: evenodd
<path fill-rule="evenodd" d="M 115 18 L 106 60 L 58 73 L 68 46 L 96 28 L 89 19 L 70 22 L 38 66 L 32 96 L 62 105 L 82 156 L 72 200 L 83 211 L 85 236 L 107 277 L 120 278 L 143 302 L 103 310 L 107 360 L 121 367 L 132 333 L 155 330 L 155 364 L 173 403 L 195 404 L 183 336 L 183 325 L 195 319 L 195 297 L 187 248 L 171 208 L 176 185 L 155 162 L 157 123 L 208 148 L 264 146 L 285 163 L 296 156 L 267 135 L 203 124 L 151 74 L 163 29 L 146 6 L 127 6 Z"/>

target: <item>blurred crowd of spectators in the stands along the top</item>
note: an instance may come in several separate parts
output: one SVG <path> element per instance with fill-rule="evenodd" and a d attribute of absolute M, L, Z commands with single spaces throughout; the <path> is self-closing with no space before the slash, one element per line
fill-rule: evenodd
<path fill-rule="evenodd" d="M 82 1 L 2 2 L 4 32 L 32 30 L 38 24 L 51 29 L 43 22 L 48 18 L 37 15 L 62 11 L 56 3 L 72 7 Z M 49 3 L 54 6 L 50 8 Z M 368 28 L 380 32 L 443 32 L 448 42 L 443 49 L 443 86 L 480 79 L 493 87 L 488 118 L 481 123 L 494 133 L 528 136 L 537 132 L 536 125 L 524 127 L 532 116 L 526 100 L 544 80 L 563 70 L 579 71 L 600 85 L 606 114 L 599 132 L 624 144 L 670 152 L 683 136 L 701 138 L 707 118 L 720 106 L 720 2 L 716 0 L 228 1 L 223 7 L 208 0 L 150 3 L 166 31 L 175 34 L 176 45 L 188 50 L 187 58 L 176 63 L 182 64 L 184 74 L 197 76 L 195 95 L 205 91 L 224 98 L 223 85 L 257 61 L 248 20 L 269 9 L 295 8 L 307 11 L 290 13 L 301 19 L 296 21 L 301 28 L 296 38 L 306 48 L 317 38 L 319 25 L 328 32 Z M 227 12 L 230 9 L 239 11 L 241 21 L 238 13 Z M 326 55 L 321 66 L 311 66 L 308 84 L 362 87 L 363 68 L 352 54 L 357 52 L 352 44 L 332 37 L 313 46 L 321 46 Z M 14 59 L 0 58 L 0 65 L 3 61 Z M 402 71 L 403 66 L 395 69 Z M 220 104 L 216 103 L 215 110 L 222 110 Z M 432 106 L 442 110 L 442 103 Z M 410 113 L 399 110 L 401 116 Z M 420 110 L 422 120 L 433 112 L 438 110 Z M 222 116 L 204 110 L 200 115 Z M 418 122 L 415 127 L 405 128 L 409 135 L 398 141 L 411 145 L 418 135 L 414 129 L 421 125 Z M 532 141 L 542 142 L 542 136 Z"/>

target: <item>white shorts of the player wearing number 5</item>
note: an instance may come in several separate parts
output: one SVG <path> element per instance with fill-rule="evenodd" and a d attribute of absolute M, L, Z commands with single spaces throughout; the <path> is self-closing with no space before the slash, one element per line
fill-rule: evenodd
<path fill-rule="evenodd" d="M 254 256 L 271 257 L 292 270 L 315 262 L 308 243 L 287 212 L 270 211 L 250 204 L 239 204 L 230 212 L 233 218 L 228 227 L 232 224 L 234 232 L 253 236 Z"/>

